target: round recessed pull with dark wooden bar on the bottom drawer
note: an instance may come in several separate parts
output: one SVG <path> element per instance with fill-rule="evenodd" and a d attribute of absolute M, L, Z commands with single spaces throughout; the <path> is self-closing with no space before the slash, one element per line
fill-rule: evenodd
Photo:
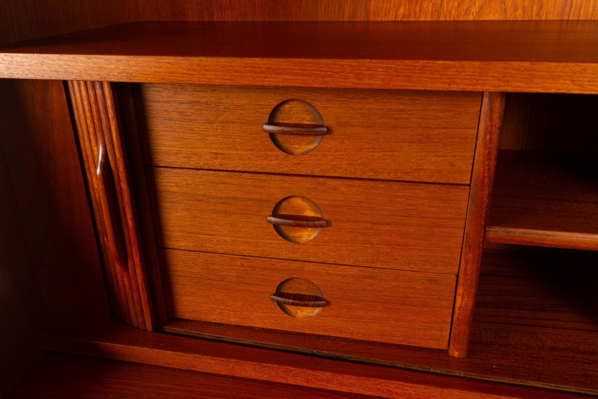
<path fill-rule="evenodd" d="M 270 295 L 280 310 L 295 319 L 310 319 L 329 305 L 317 285 L 307 279 L 292 277 L 276 287 Z"/>

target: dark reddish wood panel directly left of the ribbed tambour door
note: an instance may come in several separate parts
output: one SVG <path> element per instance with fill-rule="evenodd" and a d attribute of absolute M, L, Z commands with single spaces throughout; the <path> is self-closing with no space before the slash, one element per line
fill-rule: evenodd
<path fill-rule="evenodd" d="M 0 143 L 48 320 L 109 316 L 62 83 L 0 81 L 0 104 Z"/>

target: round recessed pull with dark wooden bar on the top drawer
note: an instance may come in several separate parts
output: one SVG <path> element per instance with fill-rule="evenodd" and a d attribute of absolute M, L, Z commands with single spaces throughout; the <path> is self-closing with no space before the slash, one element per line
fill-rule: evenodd
<path fill-rule="evenodd" d="M 316 107 L 301 99 L 288 99 L 276 105 L 263 129 L 274 146 L 290 155 L 312 152 L 330 132 Z"/>

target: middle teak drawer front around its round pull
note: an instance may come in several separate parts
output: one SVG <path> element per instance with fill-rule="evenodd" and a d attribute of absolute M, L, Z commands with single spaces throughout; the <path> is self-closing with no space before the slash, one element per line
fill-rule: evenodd
<path fill-rule="evenodd" d="M 468 186 L 148 168 L 158 246 L 457 274 Z M 267 222 L 307 197 L 331 226 L 283 239 Z M 295 228 L 300 229 L 300 228 Z"/>

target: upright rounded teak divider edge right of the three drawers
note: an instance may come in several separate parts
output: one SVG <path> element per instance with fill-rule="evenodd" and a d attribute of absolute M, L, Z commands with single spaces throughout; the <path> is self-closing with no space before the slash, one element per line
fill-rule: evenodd
<path fill-rule="evenodd" d="M 469 349 L 504 109 L 505 93 L 484 92 L 449 343 L 450 355 L 459 358 L 467 356 Z"/>

